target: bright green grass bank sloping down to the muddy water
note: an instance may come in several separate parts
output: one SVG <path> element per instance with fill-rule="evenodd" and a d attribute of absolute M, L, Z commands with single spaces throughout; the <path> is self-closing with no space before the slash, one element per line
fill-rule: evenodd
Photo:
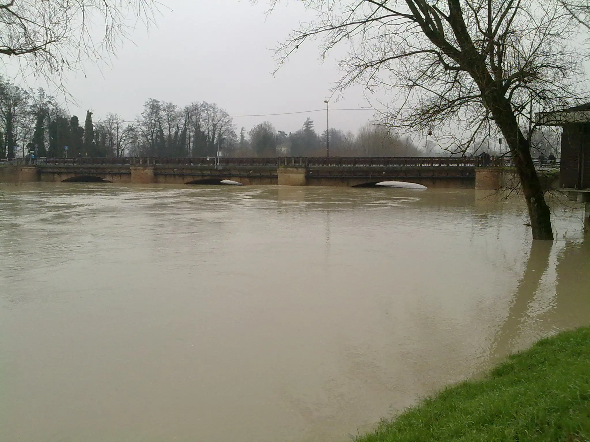
<path fill-rule="evenodd" d="M 590 327 L 542 339 L 357 440 L 590 441 Z"/>

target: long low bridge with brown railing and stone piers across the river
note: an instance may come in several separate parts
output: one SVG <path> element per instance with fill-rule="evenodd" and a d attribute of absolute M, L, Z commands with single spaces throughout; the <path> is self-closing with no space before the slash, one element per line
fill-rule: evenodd
<path fill-rule="evenodd" d="M 366 186 L 405 181 L 427 187 L 489 188 L 497 167 L 478 167 L 480 157 L 122 157 L 54 158 L 5 165 L 4 182 L 113 182 Z M 501 166 L 492 158 L 486 166 Z M 496 164 L 498 163 L 498 164 Z M 491 184 L 487 184 L 490 182 Z"/>

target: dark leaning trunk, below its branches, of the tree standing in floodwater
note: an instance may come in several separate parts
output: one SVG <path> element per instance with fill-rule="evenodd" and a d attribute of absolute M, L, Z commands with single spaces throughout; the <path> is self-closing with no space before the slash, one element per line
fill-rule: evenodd
<path fill-rule="evenodd" d="M 519 175 L 520 186 L 522 186 L 526 204 L 529 207 L 533 239 L 552 241 L 551 211 L 543 196 L 543 189 L 535 170 L 535 164 L 533 164 L 533 158 L 530 155 L 529 142 L 518 126 L 509 101 L 503 95 L 497 94 L 495 97 L 490 95 L 486 97 L 486 102 L 489 104 L 494 121 L 500 128 L 506 144 L 510 147 L 514 167 Z"/>

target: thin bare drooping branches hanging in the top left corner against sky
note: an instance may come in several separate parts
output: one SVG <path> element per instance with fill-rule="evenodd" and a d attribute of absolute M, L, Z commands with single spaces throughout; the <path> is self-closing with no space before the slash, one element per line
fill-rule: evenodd
<path fill-rule="evenodd" d="M 153 21 L 158 5 L 154 0 L 0 1 L 0 61 L 14 57 L 22 72 L 50 81 L 112 53 L 137 21 Z"/>

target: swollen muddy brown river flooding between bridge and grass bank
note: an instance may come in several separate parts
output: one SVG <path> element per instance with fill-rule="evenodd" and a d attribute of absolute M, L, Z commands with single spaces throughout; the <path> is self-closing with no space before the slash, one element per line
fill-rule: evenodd
<path fill-rule="evenodd" d="M 347 441 L 590 323 L 582 212 L 474 190 L 0 194 L 1 442 Z"/>

